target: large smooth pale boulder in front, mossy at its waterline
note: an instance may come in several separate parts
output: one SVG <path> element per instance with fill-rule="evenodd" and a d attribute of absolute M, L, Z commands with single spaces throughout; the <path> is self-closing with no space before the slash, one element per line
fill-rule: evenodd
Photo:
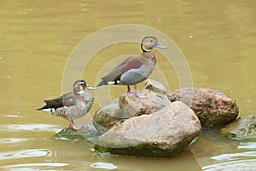
<path fill-rule="evenodd" d="M 119 155 L 175 157 L 201 132 L 187 105 L 173 102 L 150 115 L 131 117 L 102 134 L 95 150 Z"/>

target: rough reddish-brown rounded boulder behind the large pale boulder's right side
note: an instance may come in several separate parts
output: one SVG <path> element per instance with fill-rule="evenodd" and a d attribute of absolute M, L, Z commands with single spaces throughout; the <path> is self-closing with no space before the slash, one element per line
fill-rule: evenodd
<path fill-rule="evenodd" d="M 209 88 L 181 88 L 169 96 L 171 101 L 183 101 L 199 117 L 203 128 L 221 127 L 233 122 L 239 113 L 236 100 Z"/>

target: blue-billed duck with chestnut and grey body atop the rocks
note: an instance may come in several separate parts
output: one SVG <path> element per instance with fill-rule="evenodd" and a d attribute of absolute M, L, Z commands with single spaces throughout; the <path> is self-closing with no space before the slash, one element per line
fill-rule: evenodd
<path fill-rule="evenodd" d="M 96 87 L 102 85 L 126 85 L 128 94 L 146 98 L 146 94 L 137 91 L 137 83 L 142 83 L 154 71 L 156 58 L 152 51 L 153 48 L 167 49 L 158 42 L 156 37 L 144 37 L 141 43 L 142 54 L 131 55 L 125 59 L 106 76 L 102 77 L 102 81 Z M 134 86 L 134 91 L 131 91 L 131 85 Z"/>

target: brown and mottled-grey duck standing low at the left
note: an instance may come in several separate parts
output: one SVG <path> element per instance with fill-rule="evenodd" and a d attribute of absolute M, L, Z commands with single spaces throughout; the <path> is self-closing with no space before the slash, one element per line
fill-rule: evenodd
<path fill-rule="evenodd" d="M 83 128 L 81 124 L 74 124 L 73 120 L 84 117 L 90 111 L 94 101 L 93 94 L 88 90 L 96 90 L 90 87 L 83 79 L 73 83 L 73 92 L 63 94 L 61 97 L 44 100 L 46 105 L 38 108 L 38 111 L 46 111 L 51 115 L 64 117 L 69 122 L 69 128 L 79 130 Z"/>

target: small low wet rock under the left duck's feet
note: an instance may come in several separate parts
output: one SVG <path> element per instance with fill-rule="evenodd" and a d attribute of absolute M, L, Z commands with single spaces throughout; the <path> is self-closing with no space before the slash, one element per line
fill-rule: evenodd
<path fill-rule="evenodd" d="M 83 128 L 75 130 L 73 128 L 63 128 L 61 132 L 55 134 L 55 138 L 95 140 L 98 132 L 93 124 L 85 124 Z"/>

